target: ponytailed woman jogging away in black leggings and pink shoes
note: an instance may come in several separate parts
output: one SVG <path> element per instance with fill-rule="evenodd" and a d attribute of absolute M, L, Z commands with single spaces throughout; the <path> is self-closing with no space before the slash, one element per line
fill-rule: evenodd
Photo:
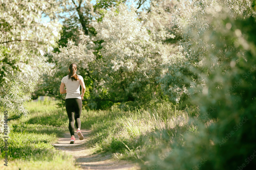
<path fill-rule="evenodd" d="M 69 132 L 71 135 L 70 143 L 75 142 L 74 136 L 74 121 L 76 121 L 77 135 L 80 140 L 83 140 L 83 135 L 81 133 L 81 121 L 80 115 L 82 112 L 82 99 L 85 92 L 85 85 L 83 82 L 83 77 L 76 74 L 77 66 L 76 64 L 70 64 L 69 73 L 67 76 L 63 77 L 60 85 L 60 94 L 67 93 L 65 105 L 66 111 L 69 119 Z M 82 87 L 82 94 L 80 95 L 80 85 Z M 66 89 L 64 87 L 66 86 Z"/>

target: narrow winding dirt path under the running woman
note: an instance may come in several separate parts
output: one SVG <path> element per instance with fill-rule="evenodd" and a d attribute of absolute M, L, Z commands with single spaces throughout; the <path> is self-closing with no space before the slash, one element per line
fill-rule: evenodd
<path fill-rule="evenodd" d="M 57 143 L 53 143 L 56 149 L 62 150 L 76 158 L 76 162 L 81 169 L 99 169 L 99 170 L 135 170 L 139 169 L 135 164 L 126 161 L 116 161 L 112 159 L 110 154 L 93 154 L 90 147 L 86 146 L 90 130 L 82 130 L 83 140 L 78 139 L 75 133 L 76 141 L 73 144 L 70 142 L 70 134 L 64 134 L 63 138 L 59 138 Z"/>

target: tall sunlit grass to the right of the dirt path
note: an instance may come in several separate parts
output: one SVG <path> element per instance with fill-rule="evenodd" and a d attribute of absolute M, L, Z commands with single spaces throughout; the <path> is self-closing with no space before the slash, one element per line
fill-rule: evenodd
<path fill-rule="evenodd" d="M 116 107 L 95 111 L 93 114 L 101 119 L 91 124 L 92 136 L 86 144 L 98 152 L 112 152 L 117 159 L 147 164 L 150 153 L 164 154 L 172 149 L 172 143 L 183 146 L 185 134 L 197 133 L 193 124 L 197 112 L 196 107 L 181 110 L 176 105 L 126 112 Z"/>

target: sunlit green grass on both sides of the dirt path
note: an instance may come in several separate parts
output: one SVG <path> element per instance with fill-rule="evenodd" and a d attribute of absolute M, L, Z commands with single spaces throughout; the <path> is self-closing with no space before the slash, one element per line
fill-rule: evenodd
<path fill-rule="evenodd" d="M 66 110 L 55 103 L 29 102 L 28 117 L 15 114 L 8 117 L 8 169 L 78 168 L 72 156 L 51 145 L 68 132 Z M 142 169 L 151 168 L 152 159 L 163 161 L 174 144 L 184 145 L 185 134 L 197 133 L 196 126 L 191 124 L 197 111 L 196 107 L 181 110 L 174 105 L 125 112 L 116 106 L 108 110 L 82 110 L 81 128 L 92 130 L 90 139 L 83 145 L 90 146 L 94 152 L 111 153 L 116 159 L 138 162 Z M 2 141 L 0 145 L 3 159 Z M 61 164 L 67 166 L 60 167 Z"/>

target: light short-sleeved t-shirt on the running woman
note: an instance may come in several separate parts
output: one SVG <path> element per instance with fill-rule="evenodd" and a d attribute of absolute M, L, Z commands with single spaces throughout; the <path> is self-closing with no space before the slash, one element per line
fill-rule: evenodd
<path fill-rule="evenodd" d="M 78 79 L 83 81 L 83 77 L 80 75 L 78 75 Z M 66 99 L 69 99 L 69 98 L 82 99 L 80 94 L 79 80 L 72 81 L 71 78 L 68 79 L 68 75 L 62 78 L 61 83 L 64 83 L 67 89 Z"/>

